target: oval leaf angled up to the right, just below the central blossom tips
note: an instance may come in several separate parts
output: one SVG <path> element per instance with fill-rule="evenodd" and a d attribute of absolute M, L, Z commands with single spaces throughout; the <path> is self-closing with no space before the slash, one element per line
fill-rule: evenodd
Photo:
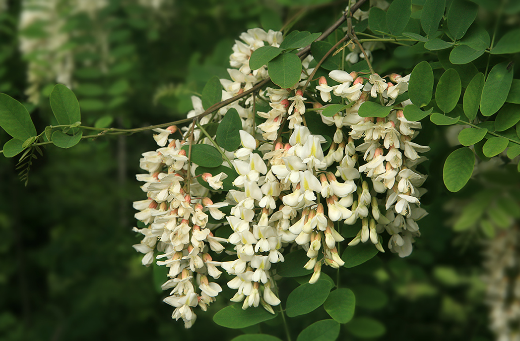
<path fill-rule="evenodd" d="M 314 284 L 305 283 L 295 288 L 287 297 L 287 316 L 300 316 L 321 306 L 329 296 L 331 286 L 329 281 L 320 279 Z"/>

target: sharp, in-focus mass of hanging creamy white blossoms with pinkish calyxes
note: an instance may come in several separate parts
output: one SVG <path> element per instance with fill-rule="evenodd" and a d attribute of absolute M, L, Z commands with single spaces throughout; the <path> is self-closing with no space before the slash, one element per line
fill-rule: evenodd
<path fill-rule="evenodd" d="M 282 41 L 280 32 L 262 29 L 240 38 L 230 58 L 231 80 L 220 80 L 223 99 L 267 78 L 265 66 L 249 68 L 249 57 L 258 47 Z M 269 110 L 254 112 L 259 102 L 251 95 L 219 109 L 211 119 L 200 119 L 201 125 L 220 122 L 230 108 L 236 109 L 242 122 L 237 150 L 218 147 L 193 123 L 180 130 L 155 129 L 161 148 L 142 154 L 140 166 L 147 173 L 137 179 L 145 181 L 142 190 L 148 199 L 134 207 L 139 210 L 135 217 L 146 227 L 134 228 L 145 235 L 134 247 L 145 254 L 144 265 L 154 261 L 157 249 L 158 264 L 170 268 L 170 279 L 162 287 L 171 292 L 164 301 L 175 307 L 172 317 L 182 318 L 186 327 L 196 319 L 193 308 L 205 310 L 222 291 L 209 281 L 220 277 L 218 268 L 232 277 L 227 285 L 237 292 L 231 301 L 241 302 L 242 309 L 262 305 L 274 313 L 273 306 L 280 304 L 276 264 L 284 261 L 284 254 L 303 249 L 308 257 L 304 267 L 314 270 L 309 283 L 315 283 L 323 265 L 344 265 L 338 250 L 345 224 L 359 221 L 361 226 L 349 247 L 372 243 L 384 252 L 386 231 L 389 250 L 401 257 L 412 252 L 420 235 L 416 221 L 426 215 L 419 202 L 426 177 L 415 166 L 425 160 L 419 153 L 429 148 L 411 141 L 421 123 L 406 120 L 402 108 L 410 101 L 398 100 L 408 90 L 409 76 L 334 70 L 329 80 L 320 77 L 314 88 L 305 89 L 312 61 L 311 56 L 303 61 L 301 81 L 292 88 L 259 91 L 256 100 L 267 102 Z M 328 85 L 332 81 L 335 85 Z M 383 118 L 359 116 L 361 104 L 370 97 L 396 109 Z M 188 117 L 204 112 L 200 98 L 192 100 Z M 346 109 L 324 116 L 332 101 L 344 103 Z M 262 123 L 256 125 L 255 114 Z M 316 117 L 322 126 L 331 126 L 331 136 L 313 134 L 309 120 Z M 172 134 L 179 136 L 173 139 Z M 197 176 L 198 165 L 188 159 L 190 143 L 219 148 L 227 160 L 218 169 L 232 165 L 238 176 L 227 179 L 234 172 L 217 170 Z M 232 181 L 232 189 L 224 190 L 225 179 Z M 229 214 L 219 210 L 226 206 Z M 219 221 L 211 224 L 209 215 Z M 227 225 L 229 237 L 215 237 L 215 230 Z M 225 243 L 224 254 L 233 259 L 214 261 Z"/>

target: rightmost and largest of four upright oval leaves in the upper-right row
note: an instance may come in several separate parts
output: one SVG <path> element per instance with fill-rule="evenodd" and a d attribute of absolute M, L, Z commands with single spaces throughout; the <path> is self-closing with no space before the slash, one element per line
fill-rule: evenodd
<path fill-rule="evenodd" d="M 513 68 L 508 70 L 508 64 L 506 61 L 497 64 L 489 72 L 480 98 L 480 112 L 484 116 L 496 113 L 508 97 L 513 82 Z"/>

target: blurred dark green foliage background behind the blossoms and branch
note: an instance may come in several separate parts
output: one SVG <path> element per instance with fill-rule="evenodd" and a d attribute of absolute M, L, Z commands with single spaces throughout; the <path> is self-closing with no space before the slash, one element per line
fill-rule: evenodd
<path fill-rule="evenodd" d="M 55 124 L 48 95 L 56 83 L 74 90 L 84 125 L 175 121 L 192 109 L 190 97 L 207 80 L 228 77 L 241 32 L 278 21 L 322 32 L 346 3 L 0 0 L 0 92 L 25 104 L 38 132 Z M 487 15 L 480 14 L 483 25 L 494 24 Z M 417 60 L 394 48 L 372 47 L 374 68 L 409 73 Z M 506 296 L 503 310 L 520 309 L 516 169 L 500 157 L 482 162 L 462 192 L 449 193 L 441 168 L 454 148 L 453 134 L 425 123 L 418 138 L 432 147 L 422 200 L 430 214 L 420 221 L 412 255 L 380 254 L 343 271 L 342 283 L 356 293 L 356 313 L 379 321 L 371 329 L 379 329 L 381 339 L 494 339 L 491 278 L 502 288 L 495 295 Z M 0 131 L 2 145 L 7 139 Z M 227 330 L 212 321 L 232 296 L 226 290 L 191 330 L 173 321 L 172 307 L 161 302 L 163 272 L 143 267 L 132 248 L 139 242 L 132 202 L 145 199 L 135 174 L 140 154 L 155 148 L 151 132 L 83 140 L 70 150 L 50 146 L 33 162 L 27 187 L 16 158 L 0 157 L 0 340 L 229 340 L 258 331 Z M 478 206 L 478 195 L 491 199 Z M 491 228 L 463 226 L 461 214 L 474 212 L 469 203 L 486 212 Z M 500 267 L 508 268 L 507 277 L 496 273 Z M 312 322 L 290 319 L 294 335 Z M 283 338 L 280 323 L 262 328 Z M 350 331 L 349 339 L 367 337 L 374 339 Z"/>

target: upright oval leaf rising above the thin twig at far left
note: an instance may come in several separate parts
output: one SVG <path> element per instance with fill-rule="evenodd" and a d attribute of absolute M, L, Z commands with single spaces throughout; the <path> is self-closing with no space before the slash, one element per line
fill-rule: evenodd
<path fill-rule="evenodd" d="M 50 93 L 50 108 L 58 124 L 72 124 L 81 121 L 80 103 L 74 93 L 63 84 L 56 84 Z"/>

